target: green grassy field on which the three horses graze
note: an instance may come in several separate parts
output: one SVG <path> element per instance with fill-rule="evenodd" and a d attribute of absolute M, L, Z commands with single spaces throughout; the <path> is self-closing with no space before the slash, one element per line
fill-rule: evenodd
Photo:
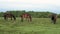
<path fill-rule="evenodd" d="M 56 24 L 50 18 L 33 18 L 32 22 L 0 18 L 0 34 L 60 34 L 60 18 Z"/>

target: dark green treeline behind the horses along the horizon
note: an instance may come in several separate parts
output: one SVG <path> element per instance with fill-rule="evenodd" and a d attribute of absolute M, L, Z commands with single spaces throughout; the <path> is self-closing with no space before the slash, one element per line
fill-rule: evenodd
<path fill-rule="evenodd" d="M 23 13 L 29 13 L 32 17 L 34 18 L 49 18 L 50 15 L 52 14 L 52 12 L 35 12 L 35 11 L 25 11 L 25 10 L 22 10 L 22 11 L 6 11 L 8 13 L 12 13 L 14 14 L 16 17 L 19 17 L 21 14 Z M 0 17 L 3 16 L 5 12 L 0 12 Z M 60 18 L 60 14 L 57 14 L 58 17 Z"/>

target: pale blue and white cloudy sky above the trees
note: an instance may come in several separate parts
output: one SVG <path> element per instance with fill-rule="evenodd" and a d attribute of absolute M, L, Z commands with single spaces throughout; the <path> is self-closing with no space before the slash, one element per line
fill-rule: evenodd
<path fill-rule="evenodd" d="M 0 0 L 0 12 L 7 10 L 50 11 L 60 14 L 60 0 Z"/>

